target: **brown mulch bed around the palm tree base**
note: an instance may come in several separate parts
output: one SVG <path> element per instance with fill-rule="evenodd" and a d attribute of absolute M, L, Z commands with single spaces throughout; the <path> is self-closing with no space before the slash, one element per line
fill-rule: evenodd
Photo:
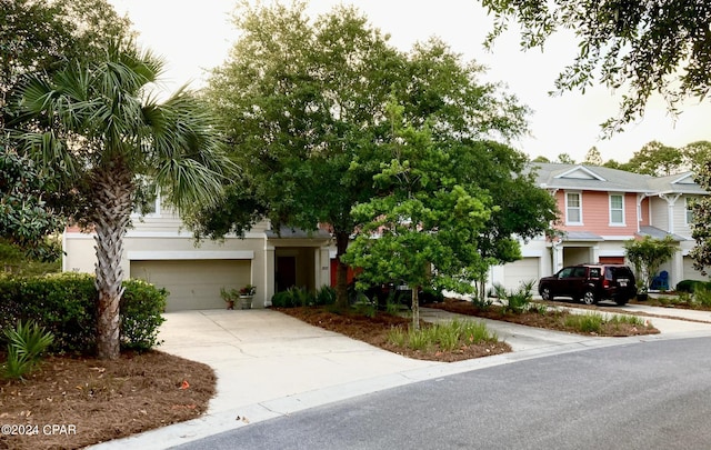
<path fill-rule="evenodd" d="M 24 381 L 0 384 L 0 449 L 77 449 L 194 419 L 216 382 L 209 366 L 159 351 L 48 357 Z"/>

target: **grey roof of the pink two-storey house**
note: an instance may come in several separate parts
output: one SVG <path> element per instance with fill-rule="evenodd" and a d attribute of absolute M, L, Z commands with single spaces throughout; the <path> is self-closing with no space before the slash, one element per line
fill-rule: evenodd
<path fill-rule="evenodd" d="M 578 189 L 605 192 L 708 193 L 693 179 L 692 172 L 652 177 L 619 169 L 585 164 L 532 162 L 535 181 L 545 189 Z"/>

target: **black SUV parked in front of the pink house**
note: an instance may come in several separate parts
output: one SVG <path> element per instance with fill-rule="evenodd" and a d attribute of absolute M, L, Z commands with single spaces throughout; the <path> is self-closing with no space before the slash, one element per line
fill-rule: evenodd
<path fill-rule="evenodd" d="M 634 274 L 627 266 L 578 264 L 564 267 L 554 276 L 541 278 L 538 292 L 543 300 L 572 297 L 585 304 L 614 300 L 625 304 L 637 294 Z"/>

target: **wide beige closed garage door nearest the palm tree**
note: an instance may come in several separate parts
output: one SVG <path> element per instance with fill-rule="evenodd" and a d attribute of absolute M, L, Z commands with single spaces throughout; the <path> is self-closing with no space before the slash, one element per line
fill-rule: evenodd
<path fill-rule="evenodd" d="M 249 260 L 131 261 L 131 278 L 168 290 L 167 311 L 224 308 L 220 288 L 250 280 Z"/>

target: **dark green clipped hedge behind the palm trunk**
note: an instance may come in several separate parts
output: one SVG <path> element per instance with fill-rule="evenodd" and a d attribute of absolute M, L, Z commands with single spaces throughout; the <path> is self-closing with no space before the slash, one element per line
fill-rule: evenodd
<path fill-rule="evenodd" d="M 121 348 L 148 350 L 159 344 L 168 291 L 142 280 L 126 280 L 120 303 Z M 50 351 L 92 354 L 96 351 L 94 277 L 59 273 L 46 277 L 0 277 L 0 336 L 18 320 L 32 319 L 54 334 Z"/>

